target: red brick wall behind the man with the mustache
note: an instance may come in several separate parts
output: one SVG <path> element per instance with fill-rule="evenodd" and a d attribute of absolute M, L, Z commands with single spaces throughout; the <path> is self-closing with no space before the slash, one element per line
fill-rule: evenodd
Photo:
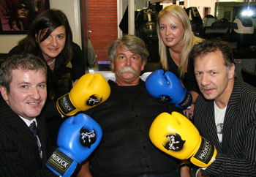
<path fill-rule="evenodd" d="M 97 61 L 108 60 L 108 45 L 118 37 L 116 0 L 89 0 L 89 26 Z"/>

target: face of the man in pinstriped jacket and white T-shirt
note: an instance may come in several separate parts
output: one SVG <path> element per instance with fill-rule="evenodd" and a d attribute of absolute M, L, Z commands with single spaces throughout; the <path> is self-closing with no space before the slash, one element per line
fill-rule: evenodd
<path fill-rule="evenodd" d="M 234 64 L 228 69 L 219 50 L 195 58 L 195 78 L 206 99 L 228 102 L 233 89 L 234 73 Z"/>

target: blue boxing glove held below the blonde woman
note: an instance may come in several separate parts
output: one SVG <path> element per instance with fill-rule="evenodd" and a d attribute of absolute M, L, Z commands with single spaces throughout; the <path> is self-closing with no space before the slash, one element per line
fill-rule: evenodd
<path fill-rule="evenodd" d="M 192 95 L 181 85 L 173 72 L 159 69 L 148 75 L 146 89 L 151 96 L 169 102 L 181 109 L 189 109 L 192 105 Z"/>

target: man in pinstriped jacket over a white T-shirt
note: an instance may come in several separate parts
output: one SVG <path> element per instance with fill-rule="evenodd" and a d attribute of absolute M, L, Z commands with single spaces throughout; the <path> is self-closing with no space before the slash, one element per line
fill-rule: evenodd
<path fill-rule="evenodd" d="M 226 42 L 201 42 L 191 57 L 202 93 L 195 102 L 194 124 L 217 148 L 214 162 L 197 170 L 197 176 L 256 176 L 255 87 L 234 78 L 233 53 Z"/>

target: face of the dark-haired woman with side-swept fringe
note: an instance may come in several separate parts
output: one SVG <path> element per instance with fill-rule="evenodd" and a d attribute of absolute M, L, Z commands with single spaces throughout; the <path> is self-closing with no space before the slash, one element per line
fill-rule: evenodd
<path fill-rule="evenodd" d="M 43 31 L 40 31 L 39 34 L 41 32 L 43 33 Z M 44 34 L 39 36 L 43 37 Z M 61 51 L 64 49 L 65 42 L 66 31 L 64 26 L 57 27 L 44 41 L 39 42 L 39 47 L 42 50 L 42 55 L 44 56 L 45 60 L 52 61 L 55 59 L 56 56 L 58 56 L 59 53 L 61 53 Z"/>

